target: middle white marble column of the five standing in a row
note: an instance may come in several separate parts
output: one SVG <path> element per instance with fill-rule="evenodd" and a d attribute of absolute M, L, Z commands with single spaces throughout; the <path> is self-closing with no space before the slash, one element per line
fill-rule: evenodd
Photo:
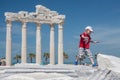
<path fill-rule="evenodd" d="M 36 63 L 41 64 L 41 26 L 37 23 L 36 29 Z"/>

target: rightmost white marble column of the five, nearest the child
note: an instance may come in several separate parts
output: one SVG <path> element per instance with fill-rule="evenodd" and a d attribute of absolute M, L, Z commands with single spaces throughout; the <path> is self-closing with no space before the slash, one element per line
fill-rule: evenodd
<path fill-rule="evenodd" d="M 63 26 L 58 24 L 58 64 L 63 64 Z"/>

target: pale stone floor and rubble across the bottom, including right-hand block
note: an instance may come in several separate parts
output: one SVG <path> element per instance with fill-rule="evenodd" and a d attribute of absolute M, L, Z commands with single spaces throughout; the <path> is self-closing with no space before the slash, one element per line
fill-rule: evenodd
<path fill-rule="evenodd" d="M 114 62 L 119 58 L 114 57 L 112 61 L 110 61 L 110 58 L 99 54 L 98 67 L 68 64 L 1 66 L 0 80 L 120 80 L 120 70 L 118 68 L 120 64 L 117 63 L 119 61 Z M 109 64 L 105 61 L 109 61 Z M 112 66 L 111 64 L 113 63 L 114 65 Z M 114 70 L 115 68 L 117 68 L 117 71 Z"/>

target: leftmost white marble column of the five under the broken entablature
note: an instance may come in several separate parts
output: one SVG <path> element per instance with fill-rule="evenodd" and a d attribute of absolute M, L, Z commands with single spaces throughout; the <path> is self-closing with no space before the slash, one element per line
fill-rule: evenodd
<path fill-rule="evenodd" d="M 12 53 L 12 22 L 7 20 L 6 66 L 11 65 L 11 53 Z"/>

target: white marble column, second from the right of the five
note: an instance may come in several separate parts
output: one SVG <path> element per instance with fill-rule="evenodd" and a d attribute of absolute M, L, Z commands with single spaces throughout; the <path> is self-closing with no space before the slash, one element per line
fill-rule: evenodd
<path fill-rule="evenodd" d="M 50 64 L 55 64 L 54 25 L 50 25 Z"/>

